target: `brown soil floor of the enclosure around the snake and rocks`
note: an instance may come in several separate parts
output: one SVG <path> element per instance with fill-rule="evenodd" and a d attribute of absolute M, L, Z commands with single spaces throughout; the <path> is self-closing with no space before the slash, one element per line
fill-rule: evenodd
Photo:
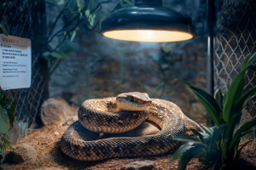
<path fill-rule="evenodd" d="M 61 135 L 68 126 L 50 125 L 32 129 L 24 139 L 20 139 L 17 144 L 26 143 L 32 145 L 37 150 L 37 161 L 25 161 L 19 164 L 4 163 L 3 167 L 10 170 L 15 169 L 35 169 L 38 167 L 59 167 L 61 169 L 125 169 L 125 165 L 132 161 L 155 161 L 154 169 L 177 169 L 178 161 L 170 162 L 170 156 L 139 157 L 134 159 L 111 159 L 107 161 L 83 162 L 76 161 L 64 155 L 60 149 Z M 17 145 L 16 144 L 16 145 Z M 253 163 L 256 169 L 256 140 L 248 144 L 241 153 L 242 160 Z M 241 167 L 243 167 L 241 165 Z M 189 162 L 187 169 L 208 169 L 201 162 L 193 159 Z"/>

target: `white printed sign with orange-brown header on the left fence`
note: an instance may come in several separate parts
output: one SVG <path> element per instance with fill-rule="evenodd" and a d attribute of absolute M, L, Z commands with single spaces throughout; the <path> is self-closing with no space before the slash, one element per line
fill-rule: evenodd
<path fill-rule="evenodd" d="M 30 88 L 32 75 L 31 41 L 0 34 L 0 86 L 3 90 Z"/>

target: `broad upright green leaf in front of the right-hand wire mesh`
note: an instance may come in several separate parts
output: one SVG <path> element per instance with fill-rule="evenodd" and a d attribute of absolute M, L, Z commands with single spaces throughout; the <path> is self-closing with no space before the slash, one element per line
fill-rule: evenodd
<path fill-rule="evenodd" d="M 247 69 L 240 71 L 230 84 L 230 88 L 225 95 L 223 118 L 224 122 L 230 122 L 230 116 L 234 111 L 234 107 L 237 104 L 237 100 L 241 98 L 241 94 L 246 82 Z"/>

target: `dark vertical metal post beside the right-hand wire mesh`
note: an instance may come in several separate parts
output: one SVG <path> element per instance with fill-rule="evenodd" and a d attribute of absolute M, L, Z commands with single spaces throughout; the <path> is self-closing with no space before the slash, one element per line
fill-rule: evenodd
<path fill-rule="evenodd" d="M 207 0 L 207 21 L 208 21 L 208 54 L 207 54 L 207 92 L 214 93 L 214 78 L 213 78 L 213 57 L 214 57 L 214 21 L 215 21 L 215 6 L 214 0 Z M 211 118 L 207 114 L 207 125 L 210 124 Z"/>

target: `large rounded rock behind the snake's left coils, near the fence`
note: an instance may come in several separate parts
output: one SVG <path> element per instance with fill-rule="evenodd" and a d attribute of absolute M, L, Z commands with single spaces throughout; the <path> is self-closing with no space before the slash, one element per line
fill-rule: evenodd
<path fill-rule="evenodd" d="M 41 120 L 45 126 L 67 120 L 68 105 L 58 99 L 47 99 L 41 106 Z"/>

